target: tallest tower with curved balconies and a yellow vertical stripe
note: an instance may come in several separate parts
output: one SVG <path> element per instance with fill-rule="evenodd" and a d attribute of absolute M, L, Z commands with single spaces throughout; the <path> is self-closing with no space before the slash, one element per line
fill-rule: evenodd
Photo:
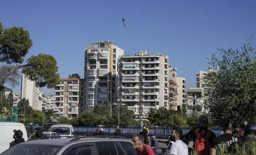
<path fill-rule="evenodd" d="M 83 110 L 93 110 L 94 105 L 112 98 L 116 102 L 118 91 L 117 64 L 124 50 L 117 44 L 98 42 L 85 49 Z M 112 96 L 112 97 L 111 97 Z"/>

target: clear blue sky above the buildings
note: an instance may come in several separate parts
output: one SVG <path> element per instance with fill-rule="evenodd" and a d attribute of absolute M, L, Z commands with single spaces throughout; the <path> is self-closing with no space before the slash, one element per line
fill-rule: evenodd
<path fill-rule="evenodd" d="M 255 15 L 255 0 L 1 0 L 0 22 L 28 30 L 27 58 L 53 55 L 62 78 L 83 76 L 87 44 L 109 40 L 125 55 L 168 55 L 188 88 L 217 48 L 240 47 L 256 35 Z M 20 85 L 13 89 L 20 93 Z"/>

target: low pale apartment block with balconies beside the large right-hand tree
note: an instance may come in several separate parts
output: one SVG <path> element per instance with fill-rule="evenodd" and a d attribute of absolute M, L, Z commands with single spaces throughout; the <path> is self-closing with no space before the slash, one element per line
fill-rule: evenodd
<path fill-rule="evenodd" d="M 202 96 L 203 88 L 190 88 L 187 90 L 187 113 L 192 116 L 194 113 L 201 114 L 204 111 L 204 98 Z"/>

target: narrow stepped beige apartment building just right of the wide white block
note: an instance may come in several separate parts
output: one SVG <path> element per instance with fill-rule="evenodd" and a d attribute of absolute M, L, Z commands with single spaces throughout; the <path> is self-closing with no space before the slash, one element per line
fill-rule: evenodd
<path fill-rule="evenodd" d="M 169 65 L 169 106 L 170 110 L 181 110 L 186 98 L 186 80 L 184 77 L 177 77 L 176 68 Z"/>

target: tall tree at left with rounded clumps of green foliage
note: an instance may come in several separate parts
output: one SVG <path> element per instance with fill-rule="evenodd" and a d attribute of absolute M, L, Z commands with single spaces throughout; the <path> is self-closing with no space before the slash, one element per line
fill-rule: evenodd
<path fill-rule="evenodd" d="M 33 45 L 29 37 L 29 32 L 22 27 L 3 28 L 0 23 L 0 62 L 4 62 L 0 67 L 1 86 L 4 82 L 17 85 L 20 68 L 29 79 L 35 81 L 38 87 L 52 88 L 58 84 L 60 77 L 57 74 L 58 66 L 51 55 L 33 55 L 27 59 L 26 64 L 22 64 Z"/>

